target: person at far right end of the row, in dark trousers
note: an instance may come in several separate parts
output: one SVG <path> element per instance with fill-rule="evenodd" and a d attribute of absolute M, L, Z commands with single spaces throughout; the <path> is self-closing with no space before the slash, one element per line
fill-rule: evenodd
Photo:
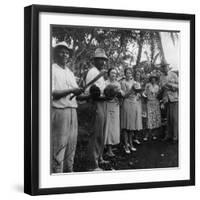
<path fill-rule="evenodd" d="M 162 63 L 163 75 L 160 84 L 163 89 L 163 103 L 167 107 L 167 132 L 163 140 L 178 140 L 178 76 L 169 71 L 169 64 Z"/>

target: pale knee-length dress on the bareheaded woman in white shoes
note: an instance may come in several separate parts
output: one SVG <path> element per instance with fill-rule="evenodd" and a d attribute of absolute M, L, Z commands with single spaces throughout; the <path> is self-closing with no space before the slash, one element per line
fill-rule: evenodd
<path fill-rule="evenodd" d="M 126 94 L 135 81 L 123 80 L 121 87 Z M 142 129 L 142 105 L 139 94 L 134 92 L 125 98 L 121 108 L 121 129 L 126 130 L 141 130 Z"/>

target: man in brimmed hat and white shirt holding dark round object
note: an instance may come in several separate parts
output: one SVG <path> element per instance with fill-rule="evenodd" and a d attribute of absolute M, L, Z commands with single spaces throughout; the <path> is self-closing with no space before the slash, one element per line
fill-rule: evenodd
<path fill-rule="evenodd" d="M 86 76 L 86 84 L 93 80 L 96 76 L 100 74 L 103 70 L 105 62 L 108 60 L 104 49 L 97 48 L 95 50 L 93 61 L 94 66 L 88 71 Z M 103 94 L 105 89 L 105 80 L 102 76 L 95 83 L 95 87 L 98 87 L 100 94 Z M 89 91 L 90 89 L 88 89 Z M 102 154 L 104 150 L 104 139 L 105 139 L 105 124 L 106 124 L 106 103 L 103 100 L 95 101 L 96 113 L 95 113 L 95 124 L 94 124 L 94 133 L 91 137 L 89 143 L 89 160 L 90 160 L 90 170 L 101 170 L 99 168 L 100 163 L 106 163 L 103 160 Z"/>

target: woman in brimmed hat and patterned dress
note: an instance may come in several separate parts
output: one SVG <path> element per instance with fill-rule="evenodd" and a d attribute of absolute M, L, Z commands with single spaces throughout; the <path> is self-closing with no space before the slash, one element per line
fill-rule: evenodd
<path fill-rule="evenodd" d="M 149 83 L 146 84 L 144 96 L 147 98 L 147 128 L 150 133 L 152 130 L 161 126 L 161 113 L 160 103 L 157 98 L 159 94 L 159 86 L 157 84 L 158 76 L 151 74 L 149 77 Z M 144 140 L 148 140 L 150 135 L 146 135 Z M 153 134 L 153 139 L 157 139 Z"/>

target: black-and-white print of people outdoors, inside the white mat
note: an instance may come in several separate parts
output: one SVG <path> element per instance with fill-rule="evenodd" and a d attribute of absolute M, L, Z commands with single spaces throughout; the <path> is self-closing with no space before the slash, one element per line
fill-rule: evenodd
<path fill-rule="evenodd" d="M 51 174 L 179 167 L 180 32 L 50 30 Z"/>

